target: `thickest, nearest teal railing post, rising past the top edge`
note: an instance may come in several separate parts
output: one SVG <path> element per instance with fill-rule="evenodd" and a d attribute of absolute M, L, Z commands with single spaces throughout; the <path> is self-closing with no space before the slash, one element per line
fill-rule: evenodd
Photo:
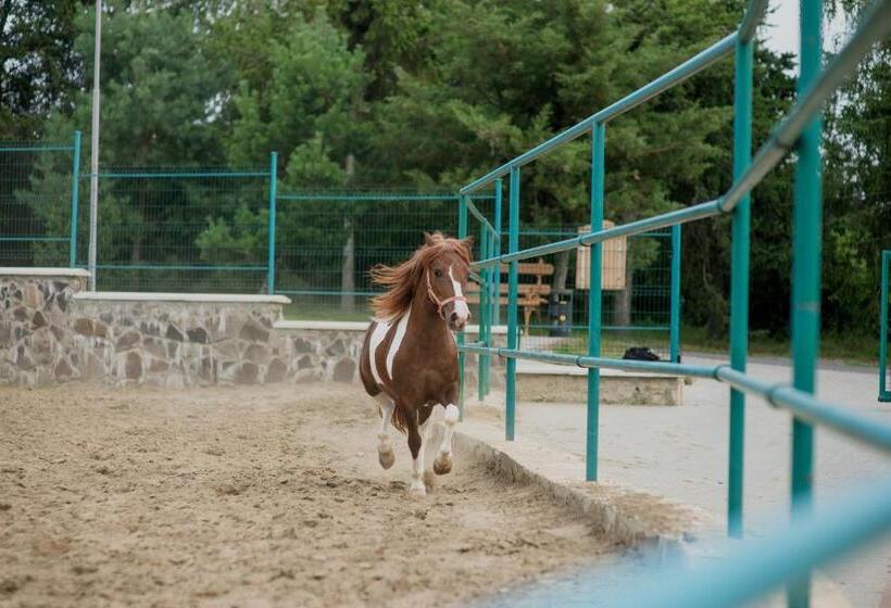
<path fill-rule="evenodd" d="M 801 59 L 798 98 L 803 98 L 817 80 L 823 60 L 823 2 L 801 0 Z M 820 180 L 820 114 L 807 124 L 798 142 L 795 188 L 792 212 L 792 384 L 813 393 L 819 354 L 820 232 L 823 217 Z M 795 418 L 792 421 L 792 514 L 811 511 L 814 471 L 814 429 Z M 811 574 L 790 582 L 789 606 L 810 605 Z"/>

